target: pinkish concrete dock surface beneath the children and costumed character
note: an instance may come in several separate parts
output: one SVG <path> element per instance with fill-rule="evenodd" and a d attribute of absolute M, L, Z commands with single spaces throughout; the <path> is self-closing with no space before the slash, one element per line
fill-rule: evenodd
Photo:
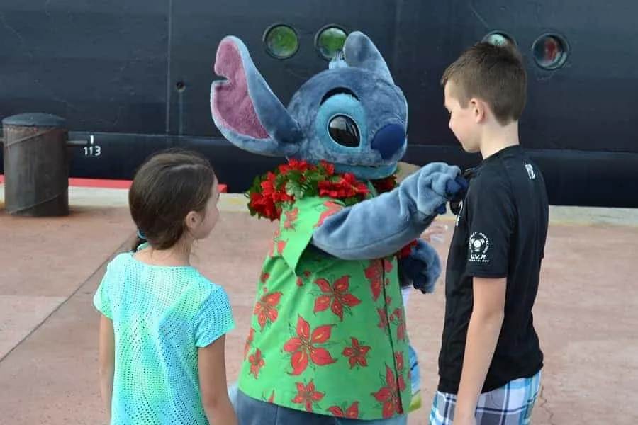
<path fill-rule="evenodd" d="M 0 424 L 104 424 L 97 374 L 99 314 L 92 297 L 106 263 L 130 248 L 127 191 L 70 189 L 72 215 L 10 217 L 0 186 Z M 221 220 L 194 265 L 230 295 L 237 329 L 227 338 L 228 378 L 240 367 L 254 288 L 275 225 L 223 195 Z M 444 262 L 451 215 L 440 244 Z M 545 354 L 534 425 L 638 420 L 638 211 L 552 208 L 535 324 Z M 444 291 L 415 291 L 408 332 L 420 354 L 427 424 L 436 385 Z"/>

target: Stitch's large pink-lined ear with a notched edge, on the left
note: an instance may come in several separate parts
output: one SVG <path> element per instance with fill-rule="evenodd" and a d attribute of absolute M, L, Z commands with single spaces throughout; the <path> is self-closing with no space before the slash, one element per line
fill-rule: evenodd
<path fill-rule="evenodd" d="M 223 38 L 215 72 L 226 78 L 211 84 L 211 113 L 224 137 L 255 154 L 296 152 L 301 128 L 259 74 L 242 40 L 232 35 Z"/>

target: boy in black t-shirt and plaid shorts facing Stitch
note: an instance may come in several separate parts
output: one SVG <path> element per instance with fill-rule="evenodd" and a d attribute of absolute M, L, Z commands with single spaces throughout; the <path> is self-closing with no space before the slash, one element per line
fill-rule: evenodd
<path fill-rule="evenodd" d="M 543 353 L 532 324 L 549 207 L 522 151 L 527 77 L 510 47 L 481 42 L 444 72 L 449 128 L 480 152 L 449 248 L 431 425 L 530 424 Z"/>

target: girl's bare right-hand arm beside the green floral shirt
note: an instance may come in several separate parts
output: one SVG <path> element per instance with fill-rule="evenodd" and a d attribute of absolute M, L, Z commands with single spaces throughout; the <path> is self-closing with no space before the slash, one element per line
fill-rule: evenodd
<path fill-rule="evenodd" d="M 198 349 L 199 385 L 204 412 L 211 424 L 237 425 L 237 416 L 228 397 L 225 335 Z"/>

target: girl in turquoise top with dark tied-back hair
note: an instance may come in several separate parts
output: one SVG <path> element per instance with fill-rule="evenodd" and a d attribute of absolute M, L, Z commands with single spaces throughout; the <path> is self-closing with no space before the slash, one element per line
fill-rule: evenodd
<path fill-rule="evenodd" d="M 133 251 L 108 263 L 101 312 L 100 386 L 110 424 L 237 425 L 226 390 L 228 295 L 189 262 L 219 211 L 206 159 L 164 152 L 142 164 L 128 195 Z"/>

